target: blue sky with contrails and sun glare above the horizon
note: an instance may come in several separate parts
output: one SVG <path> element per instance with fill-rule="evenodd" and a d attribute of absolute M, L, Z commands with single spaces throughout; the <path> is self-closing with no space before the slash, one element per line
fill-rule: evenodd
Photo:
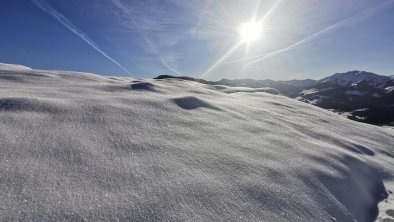
<path fill-rule="evenodd" d="M 0 0 L 0 62 L 205 79 L 394 74 L 393 0 Z M 244 44 L 242 23 L 262 21 Z"/>

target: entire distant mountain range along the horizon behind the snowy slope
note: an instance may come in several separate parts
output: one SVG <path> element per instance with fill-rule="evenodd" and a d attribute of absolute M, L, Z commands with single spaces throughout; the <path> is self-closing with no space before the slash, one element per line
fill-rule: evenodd
<path fill-rule="evenodd" d="M 157 79 L 180 78 L 211 85 L 271 88 L 281 94 L 344 115 L 349 119 L 374 124 L 394 123 L 394 76 L 365 71 L 336 73 L 320 80 L 222 79 L 206 81 L 190 77 L 158 76 Z"/>

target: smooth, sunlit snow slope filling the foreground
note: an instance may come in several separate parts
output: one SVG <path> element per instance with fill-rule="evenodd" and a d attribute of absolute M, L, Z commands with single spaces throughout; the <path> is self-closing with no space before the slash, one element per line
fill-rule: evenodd
<path fill-rule="evenodd" d="M 284 96 L 35 70 L 0 95 L 3 221 L 372 221 L 393 181 L 394 130 Z"/>

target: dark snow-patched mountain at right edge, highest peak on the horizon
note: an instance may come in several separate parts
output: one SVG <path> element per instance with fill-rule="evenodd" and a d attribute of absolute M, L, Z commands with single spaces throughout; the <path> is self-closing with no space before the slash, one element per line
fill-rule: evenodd
<path fill-rule="evenodd" d="M 321 79 L 293 96 L 350 119 L 378 125 L 394 122 L 393 76 L 352 71 Z"/>

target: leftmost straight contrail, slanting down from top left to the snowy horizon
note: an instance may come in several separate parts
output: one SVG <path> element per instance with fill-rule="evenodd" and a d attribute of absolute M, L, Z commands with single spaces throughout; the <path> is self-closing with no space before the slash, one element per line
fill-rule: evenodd
<path fill-rule="evenodd" d="M 105 58 L 110 60 L 112 63 L 114 63 L 116 66 L 121 68 L 122 70 L 126 71 L 128 74 L 131 75 L 129 70 L 127 70 L 125 67 L 123 67 L 119 62 L 117 62 L 115 59 L 111 58 L 107 53 L 105 53 L 103 50 L 101 50 L 96 43 L 92 39 L 89 38 L 84 32 L 79 30 L 70 20 L 68 20 L 64 15 L 56 11 L 54 8 L 52 8 L 45 0 L 31 0 L 33 4 L 35 4 L 38 8 L 55 18 L 60 24 L 62 24 L 64 27 L 66 27 L 68 30 L 73 32 L 75 35 L 77 35 L 79 38 L 81 38 L 84 42 L 86 42 L 88 45 L 90 45 L 94 50 L 96 50 L 98 53 L 103 55 Z"/>

